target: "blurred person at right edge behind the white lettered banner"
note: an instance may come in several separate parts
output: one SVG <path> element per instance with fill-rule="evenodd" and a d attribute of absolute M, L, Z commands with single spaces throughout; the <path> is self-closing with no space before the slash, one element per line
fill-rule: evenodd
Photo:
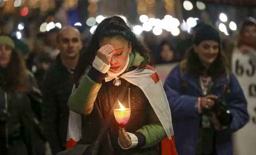
<path fill-rule="evenodd" d="M 237 48 L 234 52 L 236 51 L 248 54 L 256 66 L 256 20 L 254 18 L 250 17 L 242 24 Z"/>

